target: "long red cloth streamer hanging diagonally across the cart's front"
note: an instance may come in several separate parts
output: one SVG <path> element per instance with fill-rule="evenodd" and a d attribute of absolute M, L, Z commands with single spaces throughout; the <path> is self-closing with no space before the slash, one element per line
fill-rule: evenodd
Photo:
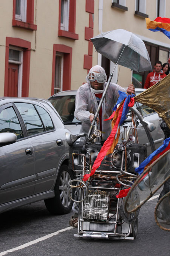
<path fill-rule="evenodd" d="M 117 120 L 116 120 L 116 123 L 109 135 L 109 137 L 107 138 L 107 140 L 105 141 L 105 143 L 103 144 L 102 148 L 100 149 L 100 152 L 99 154 L 97 155 L 96 157 L 96 160 L 94 161 L 93 163 L 93 166 L 92 166 L 92 169 L 91 169 L 91 173 L 89 174 L 85 174 L 84 175 L 84 178 L 83 178 L 83 181 L 87 181 L 88 178 L 90 176 L 92 176 L 95 171 L 97 170 L 97 168 L 100 166 L 100 163 L 102 162 L 102 160 L 104 159 L 105 155 L 107 154 L 107 151 L 110 149 L 110 147 L 112 146 L 113 144 L 113 141 L 114 141 L 114 137 L 116 135 L 116 132 L 117 132 L 117 128 L 118 128 L 118 125 L 119 125 L 119 122 L 121 120 L 121 116 L 122 116 L 122 111 L 123 111 L 123 107 L 124 107 L 124 103 L 122 104 L 122 107 L 121 109 L 119 110 L 119 116 L 117 117 Z"/>

